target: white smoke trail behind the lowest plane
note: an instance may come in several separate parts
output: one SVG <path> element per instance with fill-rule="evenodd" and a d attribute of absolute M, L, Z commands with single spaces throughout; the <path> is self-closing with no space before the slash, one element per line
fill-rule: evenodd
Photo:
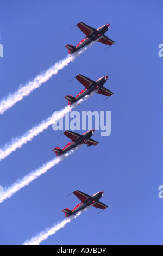
<path fill-rule="evenodd" d="M 47 228 L 45 231 L 41 232 L 40 234 L 36 235 L 35 237 L 32 237 L 32 239 L 24 242 L 23 245 L 40 245 L 40 243 L 42 241 L 48 239 L 49 236 L 54 235 L 61 228 L 64 228 L 66 224 L 73 221 L 74 218 L 77 218 L 78 216 L 80 216 L 80 214 L 82 214 L 84 211 L 86 211 L 89 208 L 90 208 L 90 206 L 79 211 L 76 215 L 72 215 L 63 221 L 58 222 L 57 224 L 54 224 L 52 228 Z"/>

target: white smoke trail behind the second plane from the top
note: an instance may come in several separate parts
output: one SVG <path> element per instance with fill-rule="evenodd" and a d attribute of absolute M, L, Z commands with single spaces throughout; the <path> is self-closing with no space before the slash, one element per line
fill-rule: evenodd
<path fill-rule="evenodd" d="M 73 105 L 65 107 L 58 113 L 55 113 L 55 115 L 52 115 L 52 117 L 48 117 L 45 121 L 42 121 L 42 123 L 30 129 L 29 131 L 24 133 L 24 135 L 22 135 L 21 137 L 12 139 L 10 143 L 5 144 L 4 147 L 0 149 L 0 161 L 2 159 L 5 159 L 12 152 L 16 151 L 17 148 L 21 148 L 28 141 L 32 141 L 32 139 L 35 136 L 39 135 L 41 132 L 47 129 L 50 125 L 56 124 L 60 118 L 63 118 L 65 114 L 67 114 L 68 112 L 71 112 L 73 108 L 76 108 L 84 100 L 87 100 L 88 97 L 89 95 L 86 95 L 83 99 L 80 99 L 79 101 L 75 102 Z"/>

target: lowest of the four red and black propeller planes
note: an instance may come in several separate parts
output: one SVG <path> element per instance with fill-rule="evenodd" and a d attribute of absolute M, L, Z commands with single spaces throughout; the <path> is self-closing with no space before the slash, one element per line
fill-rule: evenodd
<path fill-rule="evenodd" d="M 68 208 L 63 209 L 62 211 L 65 212 L 65 217 L 68 218 L 73 214 L 77 214 L 77 212 L 83 210 L 89 205 L 105 210 L 108 206 L 99 201 L 99 199 L 103 196 L 103 193 L 104 191 L 101 191 L 93 194 L 93 196 L 89 196 L 88 194 L 85 194 L 79 190 L 74 191 L 73 194 L 82 202 L 79 203 L 72 211 Z"/>

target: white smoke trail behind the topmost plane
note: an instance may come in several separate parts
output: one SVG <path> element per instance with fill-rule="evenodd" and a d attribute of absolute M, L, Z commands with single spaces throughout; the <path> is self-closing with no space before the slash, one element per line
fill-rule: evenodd
<path fill-rule="evenodd" d="M 14 106 L 18 101 L 23 100 L 24 97 L 28 96 L 33 90 L 39 88 L 41 84 L 47 82 L 53 75 L 57 75 L 58 71 L 67 66 L 70 62 L 73 62 L 77 56 L 80 56 L 83 52 L 90 48 L 96 41 L 91 42 L 86 47 L 80 49 L 79 51 L 73 53 L 71 56 L 68 55 L 63 60 L 56 62 L 51 68 L 42 74 L 36 76 L 33 81 L 29 81 L 25 86 L 20 87 L 15 93 L 9 94 L 6 98 L 2 99 L 0 102 L 0 114 L 3 114 L 9 108 Z"/>

